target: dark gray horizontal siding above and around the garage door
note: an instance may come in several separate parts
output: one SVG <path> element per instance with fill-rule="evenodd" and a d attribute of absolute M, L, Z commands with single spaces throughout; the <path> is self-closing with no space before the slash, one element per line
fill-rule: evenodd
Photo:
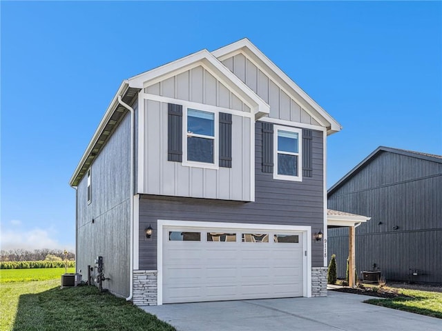
<path fill-rule="evenodd" d="M 142 195 L 140 199 L 140 270 L 157 269 L 157 220 L 212 221 L 307 225 L 312 232 L 324 226 L 323 132 L 313 131 L 313 174 L 302 182 L 273 179 L 262 172 L 262 122 L 255 128 L 256 201 L 224 201 Z M 152 225 L 153 239 L 144 229 Z M 323 243 L 312 242 L 311 263 L 322 267 Z"/>

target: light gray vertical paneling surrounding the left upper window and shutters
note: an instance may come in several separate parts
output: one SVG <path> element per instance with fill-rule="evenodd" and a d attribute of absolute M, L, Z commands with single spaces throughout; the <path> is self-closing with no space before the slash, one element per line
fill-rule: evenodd
<path fill-rule="evenodd" d="M 149 94 L 250 112 L 233 93 L 202 67 L 145 88 Z M 141 110 L 140 110 L 141 111 Z M 219 170 L 168 161 L 168 103 L 144 100 L 144 168 L 140 194 L 206 199 L 251 200 L 251 119 L 232 115 L 231 168 Z"/>

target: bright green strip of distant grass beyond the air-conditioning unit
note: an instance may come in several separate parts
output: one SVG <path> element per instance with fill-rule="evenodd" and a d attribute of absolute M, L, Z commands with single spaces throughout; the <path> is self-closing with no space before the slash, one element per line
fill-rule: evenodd
<path fill-rule="evenodd" d="M 0 269 L 0 283 L 48 281 L 49 279 L 59 279 L 61 283 L 61 275 L 64 272 L 64 268 Z M 75 268 L 68 268 L 68 272 L 75 272 Z"/>

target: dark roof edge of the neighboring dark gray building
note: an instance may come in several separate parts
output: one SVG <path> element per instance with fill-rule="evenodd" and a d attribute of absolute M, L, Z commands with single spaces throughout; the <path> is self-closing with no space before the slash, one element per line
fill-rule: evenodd
<path fill-rule="evenodd" d="M 361 163 L 356 165 L 352 170 L 350 170 L 343 178 L 341 178 L 337 183 L 335 183 L 329 190 L 327 191 L 327 196 L 332 195 L 340 186 L 342 186 L 344 183 L 346 183 L 349 179 L 354 177 L 358 172 L 360 172 L 365 166 L 372 162 L 376 157 L 378 157 L 379 154 L 382 152 L 390 152 L 394 154 L 401 154 L 405 155 L 406 157 L 415 157 L 416 159 L 422 159 L 425 161 L 432 161 L 437 163 L 442 163 L 442 156 L 436 155 L 436 154 L 427 154 L 423 152 L 414 152 L 412 150 L 401 150 L 399 148 L 391 148 L 391 147 L 385 147 L 385 146 L 379 146 L 374 150 L 371 154 L 369 154 L 368 157 L 363 159 Z"/>

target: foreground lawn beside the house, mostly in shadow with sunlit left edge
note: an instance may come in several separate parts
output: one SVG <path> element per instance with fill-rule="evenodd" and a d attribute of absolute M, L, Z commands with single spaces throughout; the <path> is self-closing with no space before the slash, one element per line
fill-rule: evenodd
<path fill-rule="evenodd" d="M 1 283 L 0 330 L 175 330 L 125 299 L 100 293 L 95 286 L 61 289 L 60 279 L 57 275 L 47 281 Z"/>

